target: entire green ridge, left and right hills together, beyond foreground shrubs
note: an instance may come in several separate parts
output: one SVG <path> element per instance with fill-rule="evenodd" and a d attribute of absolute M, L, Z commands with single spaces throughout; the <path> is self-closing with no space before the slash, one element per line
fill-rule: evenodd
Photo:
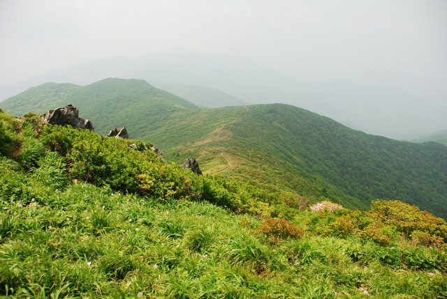
<path fill-rule="evenodd" d="M 140 80 L 64 85 L 59 93 L 57 84 L 50 86 L 51 93 L 44 84 L 0 107 L 20 115 L 41 99 L 48 106 L 39 113 L 71 102 L 96 132 L 126 126 L 132 138 L 154 142 L 168 160 L 197 158 L 207 174 L 349 208 L 398 199 L 447 218 L 447 148 L 440 144 L 367 135 L 290 105 L 199 109 Z"/>

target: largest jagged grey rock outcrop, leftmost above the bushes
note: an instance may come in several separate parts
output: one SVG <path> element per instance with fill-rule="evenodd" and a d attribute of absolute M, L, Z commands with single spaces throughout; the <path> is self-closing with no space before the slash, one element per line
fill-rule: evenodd
<path fill-rule="evenodd" d="M 72 104 L 65 108 L 50 110 L 43 114 L 42 123 L 44 125 L 71 125 L 75 129 L 88 129 L 94 132 L 95 129 L 88 119 L 79 117 L 79 110 Z"/>

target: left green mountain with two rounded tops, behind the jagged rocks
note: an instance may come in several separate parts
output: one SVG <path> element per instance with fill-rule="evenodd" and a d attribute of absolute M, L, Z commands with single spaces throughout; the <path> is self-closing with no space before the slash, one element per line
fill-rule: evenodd
<path fill-rule="evenodd" d="M 84 118 L 93 121 L 96 132 L 105 135 L 109 130 L 126 126 L 131 128 L 131 137 L 156 130 L 158 123 L 167 115 L 195 107 L 191 102 L 156 89 L 145 81 L 116 78 L 87 86 L 47 83 L 1 102 L 0 107 L 21 116 L 29 111 L 44 113 L 65 107 L 67 103 L 73 103 L 82 111 Z"/>

